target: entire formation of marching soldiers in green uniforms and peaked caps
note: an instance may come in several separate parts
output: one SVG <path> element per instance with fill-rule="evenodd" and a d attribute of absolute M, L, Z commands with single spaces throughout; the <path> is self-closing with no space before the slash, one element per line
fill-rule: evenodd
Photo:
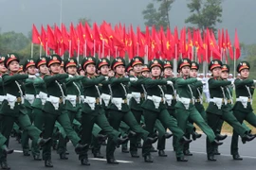
<path fill-rule="evenodd" d="M 19 62 L 14 53 L 0 59 L 2 169 L 10 169 L 10 136 L 22 145 L 24 156 L 43 160 L 46 167 L 53 167 L 53 150 L 61 160 L 68 160 L 69 141 L 81 164 L 90 165 L 89 150 L 95 158 L 103 158 L 103 144 L 108 163 L 119 163 L 115 158 L 119 146 L 133 158 L 139 158 L 142 148 L 144 161 L 153 162 L 152 152 L 167 157 L 165 144 L 171 137 L 176 161 L 188 161 L 185 156 L 192 156 L 192 140 L 201 137 L 195 125 L 207 135 L 208 161 L 216 161 L 218 146 L 227 138 L 221 134 L 224 121 L 233 127 L 233 160 L 243 160 L 239 136 L 243 144 L 256 137 L 244 124 L 246 120 L 256 127 L 252 110 L 256 80 L 248 78 L 247 61 L 238 63 L 240 77 L 234 81 L 229 80 L 229 65 L 218 59 L 210 61 L 207 81 L 198 74 L 199 64 L 190 59 L 178 61 L 177 77 L 171 60 L 145 64 L 140 57 L 127 64 L 122 58 L 110 62 L 94 57 L 85 57 L 80 64 L 58 55 L 26 59 L 22 66 Z M 206 84 L 209 106 L 205 109 Z"/>

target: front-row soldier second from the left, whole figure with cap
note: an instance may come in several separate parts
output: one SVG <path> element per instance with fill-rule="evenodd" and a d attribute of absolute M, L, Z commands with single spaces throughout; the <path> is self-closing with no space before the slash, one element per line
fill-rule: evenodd
<path fill-rule="evenodd" d="M 52 55 L 47 59 L 50 75 L 44 76 L 48 98 L 43 109 L 45 114 L 45 131 L 43 137 L 44 139 L 52 137 L 55 122 L 58 121 L 61 126 L 64 127 L 67 137 L 75 146 L 76 153 L 79 154 L 85 149 L 86 145 L 81 144 L 80 137 L 71 127 L 69 117 L 67 113 L 64 112 L 64 89 L 61 82 L 71 76 L 59 74 L 61 63 L 62 59 L 58 55 Z M 46 167 L 53 167 L 50 147 L 51 143 L 43 147 L 43 159 L 45 160 Z"/>

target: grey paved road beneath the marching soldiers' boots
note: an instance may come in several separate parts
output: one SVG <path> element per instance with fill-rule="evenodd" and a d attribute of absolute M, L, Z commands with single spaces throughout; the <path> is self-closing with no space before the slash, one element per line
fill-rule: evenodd
<path fill-rule="evenodd" d="M 160 158 L 157 153 L 153 153 L 154 163 L 145 163 L 140 157 L 134 159 L 130 157 L 130 154 L 124 154 L 120 152 L 120 148 L 117 149 L 116 158 L 121 161 L 118 165 L 107 164 L 104 159 L 94 159 L 90 154 L 91 166 L 82 166 L 80 161 L 78 161 L 78 156 L 74 153 L 74 148 L 72 144 L 68 144 L 68 155 L 67 161 L 62 161 L 59 159 L 59 155 L 53 151 L 52 161 L 54 164 L 53 169 L 60 170 L 80 170 L 80 169 L 90 169 L 90 170 L 215 170 L 215 169 L 226 169 L 226 170 L 254 170 L 256 164 L 256 141 L 252 141 L 247 144 L 240 143 L 240 155 L 244 158 L 243 161 L 233 161 L 229 155 L 230 137 L 225 140 L 225 144 L 221 145 L 219 150 L 222 153 L 221 156 L 216 156 L 217 161 L 211 162 L 207 161 L 206 157 L 206 137 L 203 135 L 202 138 L 192 142 L 191 151 L 193 153 L 192 157 L 187 157 L 188 162 L 177 162 L 175 161 L 175 154 L 172 148 L 172 140 L 168 140 L 166 153 L 167 158 Z M 21 152 L 21 146 L 14 139 L 10 140 L 10 147 L 15 149 L 15 153 L 9 155 L 9 165 L 11 169 L 19 170 L 34 170 L 34 169 L 48 169 L 44 166 L 44 161 L 33 161 L 32 157 L 24 157 Z M 139 150 L 141 152 L 141 150 Z M 101 153 L 105 153 L 105 147 L 101 148 Z"/>

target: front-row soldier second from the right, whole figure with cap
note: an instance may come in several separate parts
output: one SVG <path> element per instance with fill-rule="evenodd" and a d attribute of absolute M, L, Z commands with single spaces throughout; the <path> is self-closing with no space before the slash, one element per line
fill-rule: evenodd
<path fill-rule="evenodd" d="M 222 62 L 218 59 L 210 61 L 209 70 L 212 77 L 209 79 L 210 104 L 207 108 L 207 120 L 209 126 L 216 133 L 219 121 L 222 119 L 229 123 L 231 127 L 242 137 L 243 143 L 251 141 L 255 136 L 248 136 L 247 128 L 243 127 L 232 113 L 231 95 L 225 86 L 231 84 L 230 81 L 223 80 L 221 76 Z M 214 145 L 207 139 L 207 154 L 209 161 L 216 161 L 214 157 Z"/>

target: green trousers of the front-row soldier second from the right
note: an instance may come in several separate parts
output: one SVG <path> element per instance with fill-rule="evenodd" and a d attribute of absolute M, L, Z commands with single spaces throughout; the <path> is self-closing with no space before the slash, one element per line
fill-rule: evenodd
<path fill-rule="evenodd" d="M 247 134 L 247 128 L 243 127 L 240 122 L 233 115 L 232 111 L 223 111 L 222 115 L 207 113 L 208 125 L 216 133 L 216 130 L 219 128 L 220 121 L 226 121 L 233 129 L 241 136 Z M 207 139 L 207 154 L 208 156 L 214 154 L 214 145 L 210 144 L 210 139 Z"/>

